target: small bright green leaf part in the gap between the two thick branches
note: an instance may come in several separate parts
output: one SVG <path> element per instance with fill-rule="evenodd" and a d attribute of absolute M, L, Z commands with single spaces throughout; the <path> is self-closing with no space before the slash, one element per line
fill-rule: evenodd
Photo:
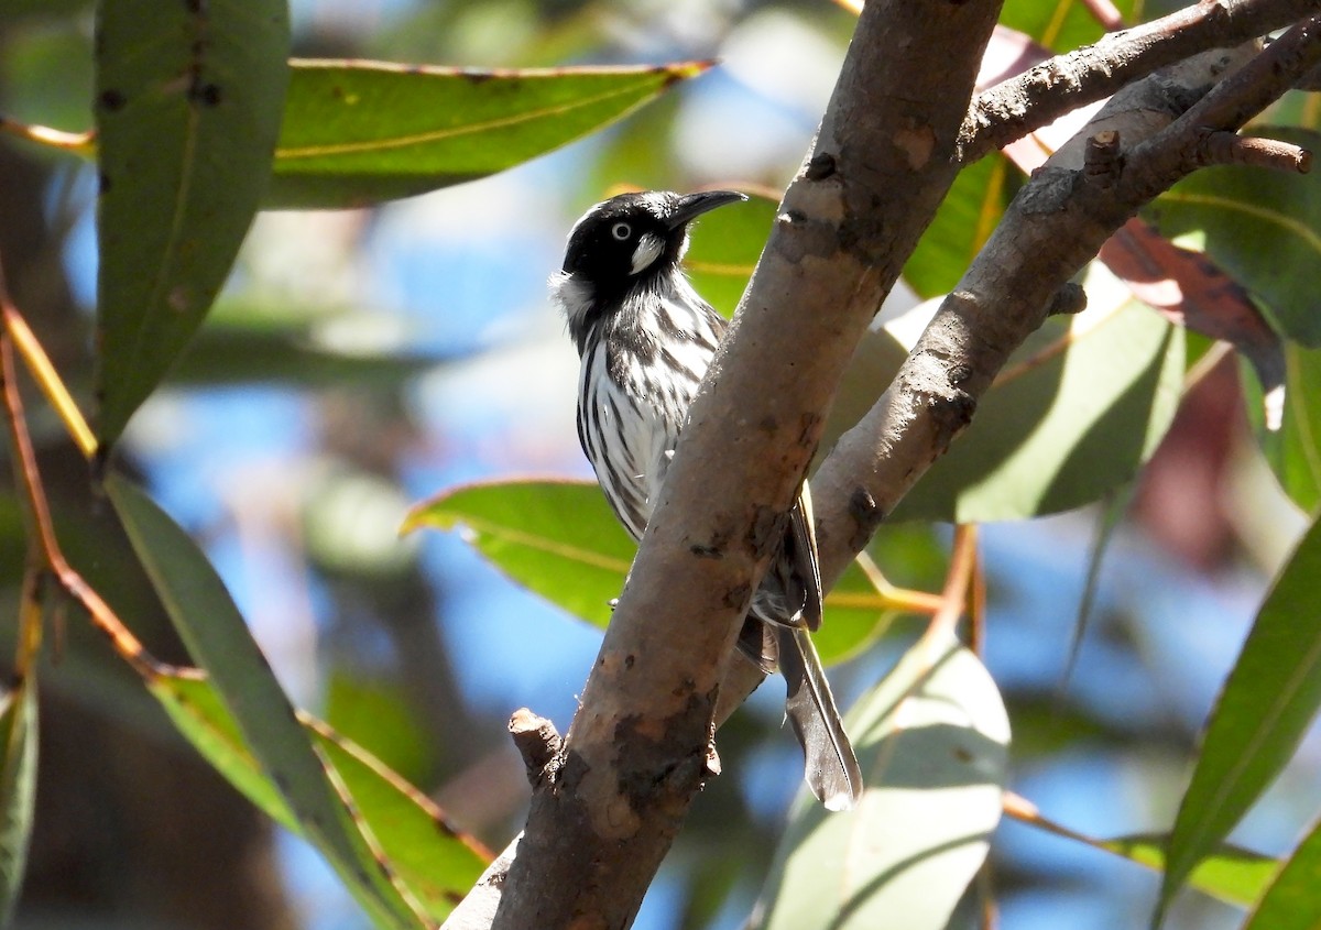
<path fill-rule="evenodd" d="M 904 280 L 919 297 L 948 293 L 959 283 L 1004 215 L 1009 181 L 1009 160 L 999 152 L 959 172 L 904 266 Z"/>

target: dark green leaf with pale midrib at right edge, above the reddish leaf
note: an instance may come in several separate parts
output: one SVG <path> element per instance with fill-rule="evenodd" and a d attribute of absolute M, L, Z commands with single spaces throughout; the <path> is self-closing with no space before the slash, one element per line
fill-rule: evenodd
<path fill-rule="evenodd" d="M 1321 133 L 1254 127 L 1254 133 L 1316 151 Z M 1242 165 L 1206 168 L 1180 181 L 1147 211 L 1161 234 L 1205 251 L 1256 296 L 1275 326 L 1321 346 L 1316 287 L 1303 268 L 1321 264 L 1321 185 L 1295 172 Z"/>

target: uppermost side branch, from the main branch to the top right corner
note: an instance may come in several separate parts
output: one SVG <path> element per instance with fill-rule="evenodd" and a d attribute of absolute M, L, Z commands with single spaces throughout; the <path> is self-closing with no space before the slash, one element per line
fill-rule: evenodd
<path fill-rule="evenodd" d="M 1316 11 L 1316 0 L 1214 0 L 1111 33 L 978 94 L 960 157 L 976 161 L 1157 69 L 1206 49 L 1242 45 Z"/>

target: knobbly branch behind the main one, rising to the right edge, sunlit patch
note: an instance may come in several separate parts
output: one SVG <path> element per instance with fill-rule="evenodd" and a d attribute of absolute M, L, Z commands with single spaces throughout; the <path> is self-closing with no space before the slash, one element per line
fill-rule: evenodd
<path fill-rule="evenodd" d="M 1033 174 L 894 383 L 814 478 L 827 584 L 945 452 L 1067 279 L 1139 209 L 1207 164 L 1209 129 L 1236 129 L 1321 61 L 1318 21 L 1293 26 L 1264 53 L 1251 44 L 1203 53 L 1125 89 Z M 1123 143 L 1106 156 L 1114 170 L 1099 174 L 1087 155 L 1095 166 L 1098 137 L 1107 148 Z"/>

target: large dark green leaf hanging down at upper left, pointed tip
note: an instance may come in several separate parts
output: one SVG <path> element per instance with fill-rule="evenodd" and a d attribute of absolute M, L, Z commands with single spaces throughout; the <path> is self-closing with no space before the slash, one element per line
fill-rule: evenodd
<path fill-rule="evenodd" d="M 266 189 L 284 0 L 103 0 L 96 18 L 98 435 L 114 443 L 206 316 Z"/>

